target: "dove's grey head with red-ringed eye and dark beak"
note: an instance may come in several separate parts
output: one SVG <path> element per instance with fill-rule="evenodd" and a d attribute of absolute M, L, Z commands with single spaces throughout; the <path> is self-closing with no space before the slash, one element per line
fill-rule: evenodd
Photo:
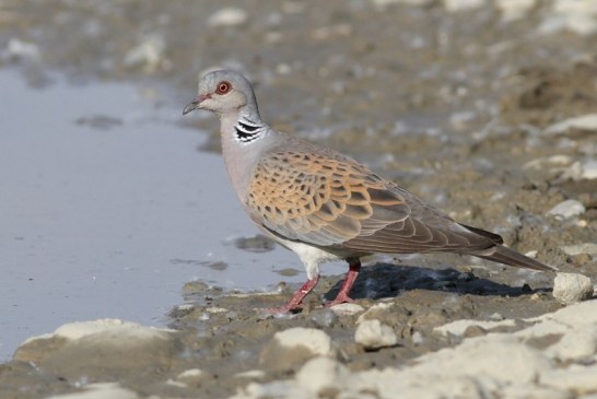
<path fill-rule="evenodd" d="M 198 95 L 183 110 L 204 109 L 219 115 L 238 113 L 259 120 L 255 93 L 248 80 L 230 70 L 212 71 L 199 80 Z"/>

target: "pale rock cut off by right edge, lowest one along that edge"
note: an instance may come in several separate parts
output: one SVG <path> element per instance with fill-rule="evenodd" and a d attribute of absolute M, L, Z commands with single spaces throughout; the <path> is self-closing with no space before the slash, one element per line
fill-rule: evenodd
<path fill-rule="evenodd" d="M 597 353 L 597 326 L 587 325 L 570 329 L 547 352 L 563 362 L 582 361 Z"/>

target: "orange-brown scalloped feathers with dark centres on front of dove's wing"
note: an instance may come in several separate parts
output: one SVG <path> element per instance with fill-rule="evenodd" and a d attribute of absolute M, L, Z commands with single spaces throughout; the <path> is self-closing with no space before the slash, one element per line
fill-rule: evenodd
<path fill-rule="evenodd" d="M 284 237 L 340 245 L 361 234 L 374 207 L 385 210 L 382 224 L 408 216 L 403 198 L 387 191 L 386 185 L 363 165 L 330 150 L 273 151 L 256 166 L 247 207 L 254 219 Z"/>

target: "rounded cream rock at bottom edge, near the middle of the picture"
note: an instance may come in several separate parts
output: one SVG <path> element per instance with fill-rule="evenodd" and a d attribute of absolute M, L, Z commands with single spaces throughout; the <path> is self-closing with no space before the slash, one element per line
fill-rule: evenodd
<path fill-rule="evenodd" d="M 341 389 L 344 380 L 353 376 L 344 365 L 327 356 L 319 356 L 305 363 L 295 378 L 300 386 L 320 394 L 325 389 Z"/>

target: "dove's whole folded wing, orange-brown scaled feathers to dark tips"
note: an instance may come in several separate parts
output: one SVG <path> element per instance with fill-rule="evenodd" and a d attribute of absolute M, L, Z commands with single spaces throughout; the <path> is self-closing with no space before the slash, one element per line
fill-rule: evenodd
<path fill-rule="evenodd" d="M 272 233 L 321 247 L 406 254 L 493 245 L 358 162 L 320 148 L 264 154 L 246 207 Z"/>

